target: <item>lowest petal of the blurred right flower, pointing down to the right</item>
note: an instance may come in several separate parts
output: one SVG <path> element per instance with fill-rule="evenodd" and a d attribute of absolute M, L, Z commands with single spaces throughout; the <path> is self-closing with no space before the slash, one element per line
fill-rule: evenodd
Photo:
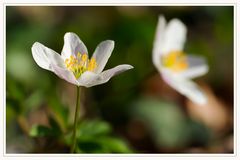
<path fill-rule="evenodd" d="M 207 103 L 207 97 L 194 82 L 170 74 L 163 74 L 163 79 L 171 87 L 188 97 L 193 102 L 200 105 Z"/>

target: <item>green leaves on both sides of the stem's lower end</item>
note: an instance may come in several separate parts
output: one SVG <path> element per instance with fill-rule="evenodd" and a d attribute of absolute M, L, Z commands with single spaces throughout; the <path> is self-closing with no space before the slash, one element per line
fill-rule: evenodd
<path fill-rule="evenodd" d="M 57 121 L 49 118 L 50 127 L 34 125 L 29 135 L 34 138 L 54 137 L 55 141 L 61 141 L 67 146 L 72 144 L 72 132 L 63 134 Z M 84 120 L 77 128 L 78 153 L 131 153 L 128 144 L 121 138 L 111 134 L 111 126 L 100 120 Z M 65 136 L 65 137 L 63 137 Z"/>

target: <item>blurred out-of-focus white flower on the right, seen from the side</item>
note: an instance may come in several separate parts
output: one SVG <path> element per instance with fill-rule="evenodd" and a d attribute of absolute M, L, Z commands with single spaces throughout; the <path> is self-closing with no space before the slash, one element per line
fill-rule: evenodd
<path fill-rule="evenodd" d="M 207 97 L 191 80 L 208 72 L 205 59 L 183 52 L 186 40 L 186 26 L 178 19 L 168 24 L 159 16 L 153 46 L 153 64 L 164 81 L 181 94 L 198 104 L 205 104 Z"/>

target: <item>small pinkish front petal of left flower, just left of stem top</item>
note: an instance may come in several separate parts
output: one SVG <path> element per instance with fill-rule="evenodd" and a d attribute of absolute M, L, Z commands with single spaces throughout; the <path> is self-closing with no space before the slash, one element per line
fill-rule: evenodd
<path fill-rule="evenodd" d="M 75 76 L 71 71 L 69 71 L 67 68 L 61 68 L 57 65 L 51 64 L 53 72 L 60 78 L 68 81 L 69 83 L 72 83 L 74 85 L 79 86 L 78 81 L 76 80 Z"/>

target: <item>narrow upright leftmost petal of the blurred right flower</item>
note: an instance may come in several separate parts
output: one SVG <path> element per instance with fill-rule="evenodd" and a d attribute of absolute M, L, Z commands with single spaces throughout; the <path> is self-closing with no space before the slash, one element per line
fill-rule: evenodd
<path fill-rule="evenodd" d="M 157 30 L 155 34 L 155 40 L 153 44 L 153 55 L 152 55 L 152 60 L 153 64 L 155 65 L 156 68 L 159 68 L 161 66 L 161 53 L 163 44 L 164 44 L 164 32 L 165 32 L 165 27 L 166 27 L 166 20 L 164 16 L 160 15 L 158 18 L 158 24 L 157 24 Z"/>

